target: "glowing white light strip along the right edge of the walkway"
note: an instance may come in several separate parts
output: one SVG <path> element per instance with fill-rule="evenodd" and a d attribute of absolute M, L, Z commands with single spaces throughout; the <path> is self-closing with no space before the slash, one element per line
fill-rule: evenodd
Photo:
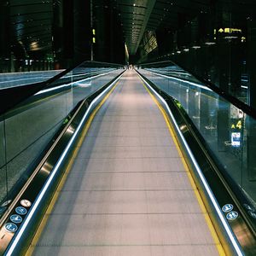
<path fill-rule="evenodd" d="M 227 223 L 226 219 L 224 218 L 224 216 L 223 216 L 223 214 L 221 212 L 220 207 L 218 206 L 218 202 L 216 201 L 215 196 L 212 194 L 212 189 L 209 187 L 206 178 L 204 177 L 204 175 L 201 172 L 200 166 L 198 166 L 197 161 L 195 160 L 195 157 L 192 154 L 191 149 L 189 148 L 188 143 L 186 142 L 185 138 L 183 137 L 183 134 L 180 131 L 180 129 L 179 129 L 178 125 L 177 125 L 176 120 L 174 119 L 174 116 L 173 116 L 173 114 L 171 112 L 171 109 L 169 108 L 169 106 L 166 103 L 166 101 L 148 84 L 148 82 L 145 79 L 143 79 L 143 77 L 139 73 L 138 73 L 138 75 L 143 80 L 143 82 L 145 84 L 147 84 L 148 87 L 152 91 L 154 91 L 154 94 L 156 96 L 158 96 L 160 101 L 163 102 L 163 104 L 166 106 L 166 109 L 167 109 L 168 113 L 170 114 L 170 116 L 172 118 L 172 122 L 175 125 L 175 127 L 177 129 L 177 132 L 178 132 L 179 136 L 181 137 L 181 139 L 183 141 L 183 144 L 184 144 L 185 148 L 187 149 L 187 152 L 189 153 L 190 159 L 192 160 L 192 162 L 193 162 L 193 164 L 195 166 L 196 172 L 198 173 L 199 177 L 201 178 L 201 182 L 203 183 L 203 185 L 204 185 L 204 187 L 205 187 L 205 189 L 207 191 L 207 194 L 208 194 L 210 200 L 212 201 L 212 205 L 215 208 L 216 212 L 218 213 L 218 218 L 220 218 L 221 223 L 224 225 L 224 230 L 226 230 L 226 232 L 227 232 L 227 234 L 228 234 L 228 236 L 230 238 L 230 241 L 232 242 L 233 247 L 236 249 L 237 255 L 239 255 L 239 256 L 244 255 L 242 253 L 242 251 L 241 251 L 241 247 L 240 247 L 238 241 L 236 240 L 236 236 L 234 236 L 232 230 L 230 229 L 230 225 Z"/>

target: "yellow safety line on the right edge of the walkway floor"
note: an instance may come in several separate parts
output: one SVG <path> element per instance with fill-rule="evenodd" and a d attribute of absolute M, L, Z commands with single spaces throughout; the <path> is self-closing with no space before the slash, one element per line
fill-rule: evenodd
<path fill-rule="evenodd" d="M 142 80 L 142 82 L 143 82 L 143 80 Z M 183 153 L 182 153 L 182 150 L 181 150 L 179 144 L 177 143 L 177 137 L 176 137 L 175 131 L 174 131 L 173 127 L 172 127 L 172 123 L 171 123 L 171 121 L 170 121 L 170 119 L 169 119 L 169 117 L 168 117 L 168 115 L 166 113 L 166 110 L 164 108 L 162 108 L 160 103 L 157 101 L 157 99 L 154 97 L 154 95 L 151 93 L 151 91 L 148 90 L 148 87 L 144 83 L 143 83 L 143 86 L 148 91 L 148 94 L 152 97 L 152 99 L 154 100 L 154 102 L 156 103 L 158 108 L 160 108 L 160 112 L 162 113 L 162 115 L 164 116 L 164 119 L 166 120 L 166 125 L 167 125 L 168 130 L 170 131 L 170 134 L 171 134 L 171 136 L 173 138 L 173 141 L 174 141 L 174 143 L 176 145 L 177 152 L 178 152 L 179 156 L 181 157 L 181 160 L 183 162 L 183 166 L 184 166 L 185 171 L 186 171 L 186 173 L 187 173 L 187 175 L 189 177 L 189 182 L 191 183 L 191 186 L 192 186 L 192 188 L 193 188 L 193 190 L 195 192 L 195 197 L 196 197 L 196 199 L 197 199 L 197 201 L 198 201 L 198 203 L 199 203 L 199 205 L 201 207 L 201 211 L 203 212 L 203 215 L 204 215 L 204 217 L 205 217 L 205 219 L 207 221 L 208 228 L 209 228 L 209 230 L 210 230 L 210 232 L 212 234 L 212 238 L 213 238 L 213 241 L 215 242 L 215 245 L 216 245 L 216 247 L 218 249 L 218 253 L 219 253 L 219 255 L 224 256 L 225 255 L 224 248 L 222 247 L 222 245 L 221 245 L 221 243 L 220 243 L 220 241 L 218 239 L 218 235 L 216 233 L 216 230 L 214 229 L 214 226 L 212 224 L 212 220 L 209 217 L 209 214 L 207 212 L 207 208 L 205 207 L 205 205 L 204 205 L 204 203 L 203 203 L 203 201 L 201 199 L 201 195 L 200 195 L 200 193 L 199 193 L 199 191 L 198 191 L 198 189 L 197 189 L 197 187 L 195 185 L 195 181 L 194 181 L 194 179 L 193 179 L 193 177 L 191 175 L 191 172 L 189 170 L 189 166 L 188 166 L 188 164 L 187 164 L 187 162 L 186 162 L 186 160 L 185 160 L 185 158 L 183 156 Z"/>

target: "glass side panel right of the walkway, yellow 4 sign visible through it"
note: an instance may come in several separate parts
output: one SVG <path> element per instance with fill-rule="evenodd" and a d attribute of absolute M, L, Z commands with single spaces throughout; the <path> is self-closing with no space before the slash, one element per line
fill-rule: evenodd
<path fill-rule="evenodd" d="M 200 131 L 219 171 L 256 227 L 256 120 L 180 67 L 139 67 L 147 79 L 177 100 Z"/>

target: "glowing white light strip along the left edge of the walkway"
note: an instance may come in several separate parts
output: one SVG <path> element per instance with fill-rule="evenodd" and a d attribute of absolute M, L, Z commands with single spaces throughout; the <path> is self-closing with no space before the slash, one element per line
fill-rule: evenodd
<path fill-rule="evenodd" d="M 122 75 L 120 75 L 119 78 L 115 79 L 113 81 L 113 83 L 108 86 L 108 88 L 103 90 L 102 93 L 100 95 L 96 96 L 96 98 L 90 103 L 90 106 L 89 106 L 89 108 L 87 108 L 86 112 L 84 113 L 83 119 L 81 119 L 77 130 L 74 132 L 73 137 L 71 138 L 71 140 L 67 144 L 67 147 L 65 148 L 65 150 L 61 154 L 61 157 L 57 161 L 54 170 L 50 173 L 50 176 L 48 177 L 47 182 L 44 184 L 44 187 L 41 190 L 40 194 L 38 195 L 36 201 L 33 203 L 32 208 L 30 209 L 24 223 L 21 225 L 20 230 L 17 231 L 17 233 L 16 233 L 17 236 L 15 236 L 15 240 L 11 243 L 11 246 L 7 249 L 7 252 L 4 253 L 5 256 L 12 256 L 12 253 L 14 252 L 17 243 L 20 241 L 20 237 L 23 235 L 23 232 L 26 230 L 27 224 L 29 224 L 30 220 L 32 219 L 33 214 L 37 210 L 37 207 L 38 207 L 40 201 L 42 201 L 47 189 L 50 186 L 50 183 L 52 182 L 53 178 L 55 177 L 56 172 L 58 171 L 59 167 L 61 166 L 62 161 L 65 159 L 65 157 L 67 155 L 67 151 L 72 146 L 74 139 L 79 134 L 79 131 L 80 131 L 80 129 L 81 129 L 83 123 L 84 123 L 84 120 L 86 119 L 88 113 L 90 112 L 90 108 L 95 104 L 95 102 L 99 98 L 101 98 L 104 94 L 106 94 L 106 92 L 108 92 L 108 90 L 110 90 L 113 87 L 114 84 L 116 84 L 116 82 L 121 78 L 121 76 Z"/>

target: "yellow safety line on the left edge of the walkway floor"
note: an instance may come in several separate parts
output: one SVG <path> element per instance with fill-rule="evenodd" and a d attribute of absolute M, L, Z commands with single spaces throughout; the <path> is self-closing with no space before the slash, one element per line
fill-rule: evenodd
<path fill-rule="evenodd" d="M 50 203 L 49 203 L 49 207 L 47 208 L 45 214 L 44 214 L 44 218 L 42 219 L 41 223 L 38 226 L 38 230 L 36 231 L 35 236 L 32 239 L 32 242 L 28 248 L 28 250 L 26 251 L 26 256 L 31 256 L 33 253 L 33 250 L 35 248 L 34 245 L 36 245 L 38 243 L 38 240 L 40 238 L 40 236 L 42 235 L 42 232 L 44 230 L 44 227 L 47 223 L 47 220 L 49 218 L 49 214 L 50 212 L 52 212 L 54 206 L 55 206 L 55 202 L 57 201 L 61 189 L 64 186 L 68 173 L 71 170 L 71 167 L 73 166 L 73 161 L 75 160 L 77 154 L 79 153 L 79 147 L 82 145 L 83 141 L 84 141 L 84 136 L 86 135 L 87 131 L 90 128 L 91 122 L 94 119 L 96 113 L 98 112 L 98 110 L 102 107 L 103 103 L 106 102 L 106 100 L 108 99 L 108 96 L 112 93 L 112 91 L 115 89 L 115 87 L 119 84 L 119 81 L 116 82 L 116 84 L 113 85 L 113 88 L 111 90 L 109 90 L 108 94 L 102 99 L 102 102 L 99 103 L 99 105 L 97 105 L 97 107 L 94 109 L 93 113 L 90 114 L 90 118 L 88 119 L 88 121 L 86 122 L 86 124 L 84 125 L 84 129 L 80 135 L 79 138 L 79 142 L 77 143 L 78 147 L 75 148 L 75 150 L 73 151 L 73 155 L 71 157 L 71 160 L 68 163 L 68 166 L 66 168 L 66 171 L 64 172 L 63 176 L 61 177 L 61 181 L 58 184 L 58 187 L 55 191 L 55 195 L 53 196 L 53 198 L 51 199 Z"/>

